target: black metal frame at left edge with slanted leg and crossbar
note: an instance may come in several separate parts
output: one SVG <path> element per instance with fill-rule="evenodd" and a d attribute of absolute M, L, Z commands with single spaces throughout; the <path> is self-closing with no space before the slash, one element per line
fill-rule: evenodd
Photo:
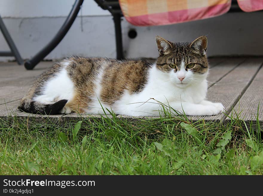
<path fill-rule="evenodd" d="M 9 51 L 0 51 L 0 56 L 14 56 L 16 58 L 16 61 L 19 65 L 22 65 L 24 63 L 23 59 L 21 58 L 19 51 L 16 48 L 16 45 L 13 41 L 13 39 L 11 38 L 6 26 L 4 25 L 4 21 L 2 20 L 1 16 L 0 16 L 0 30 L 10 48 L 10 52 Z"/>

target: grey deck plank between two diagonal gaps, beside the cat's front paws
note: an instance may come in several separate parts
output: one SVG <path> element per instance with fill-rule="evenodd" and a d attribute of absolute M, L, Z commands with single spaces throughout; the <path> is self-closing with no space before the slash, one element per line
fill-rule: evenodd
<path fill-rule="evenodd" d="M 263 59 L 248 59 L 236 69 L 227 74 L 218 83 L 208 89 L 207 99 L 212 102 L 220 102 L 228 115 L 258 72 Z M 223 123 L 227 116 L 223 113 L 215 116 L 193 116 L 192 121 L 204 119 L 205 121 L 218 121 Z"/>

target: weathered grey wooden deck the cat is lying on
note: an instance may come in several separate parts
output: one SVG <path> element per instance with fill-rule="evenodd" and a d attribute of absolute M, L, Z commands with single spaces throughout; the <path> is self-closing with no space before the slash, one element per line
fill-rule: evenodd
<path fill-rule="evenodd" d="M 257 119 L 263 127 L 263 58 L 211 58 L 210 74 L 208 81 L 207 98 L 213 102 L 221 102 L 226 114 L 203 117 L 189 117 L 193 121 L 204 119 L 205 121 L 228 122 L 233 108 L 249 124 L 256 124 Z M 0 63 L 0 119 L 12 121 L 13 117 L 30 121 L 63 123 L 71 120 L 79 120 L 82 116 L 72 113 L 68 115 L 36 115 L 21 112 L 17 109 L 19 100 L 25 95 L 33 80 L 53 62 L 41 62 L 34 70 L 25 70 L 16 62 Z M 258 112 L 259 106 L 259 112 Z M 235 113 L 233 112 L 233 116 Z M 257 113 L 259 114 L 257 116 Z M 87 115 L 85 117 L 88 118 Z M 120 118 L 133 118 L 118 115 Z M 145 118 L 145 117 L 141 117 Z"/>

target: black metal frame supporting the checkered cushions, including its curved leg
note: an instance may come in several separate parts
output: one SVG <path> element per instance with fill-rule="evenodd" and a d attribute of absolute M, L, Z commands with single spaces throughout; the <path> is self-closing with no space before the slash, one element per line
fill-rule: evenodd
<path fill-rule="evenodd" d="M 36 64 L 38 64 L 46 55 L 48 55 L 63 39 L 68 30 L 70 29 L 72 23 L 74 22 L 79 9 L 84 0 L 76 0 L 71 12 L 69 13 L 66 21 L 59 29 L 56 36 L 44 47 L 39 53 L 37 53 L 33 58 L 25 62 L 25 67 L 27 70 L 32 70 Z M 121 33 L 121 17 L 123 16 L 120 9 L 120 4 L 118 0 L 94 0 L 103 10 L 108 10 L 113 16 L 114 26 L 115 26 L 115 40 L 116 40 L 116 51 L 117 59 L 123 59 L 123 44 L 122 44 L 122 33 Z M 229 12 L 240 12 L 242 11 L 236 0 L 232 0 L 231 8 Z"/>

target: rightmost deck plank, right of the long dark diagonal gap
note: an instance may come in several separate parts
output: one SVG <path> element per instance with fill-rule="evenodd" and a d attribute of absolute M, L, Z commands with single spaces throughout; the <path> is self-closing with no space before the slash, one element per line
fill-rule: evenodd
<path fill-rule="evenodd" d="M 263 63 L 263 60 L 262 60 Z M 252 128 L 256 131 L 258 128 L 263 129 L 263 69 L 259 70 L 254 80 L 247 88 L 242 97 L 238 100 L 238 103 L 230 113 L 230 116 L 244 120 L 250 129 L 250 123 L 252 122 Z M 259 111 L 258 111 L 259 109 Z M 237 114 L 237 115 L 236 115 Z M 258 118 L 258 122 L 257 122 Z M 229 117 L 226 118 L 226 122 L 230 122 Z M 244 130 L 245 125 L 241 123 Z"/>

